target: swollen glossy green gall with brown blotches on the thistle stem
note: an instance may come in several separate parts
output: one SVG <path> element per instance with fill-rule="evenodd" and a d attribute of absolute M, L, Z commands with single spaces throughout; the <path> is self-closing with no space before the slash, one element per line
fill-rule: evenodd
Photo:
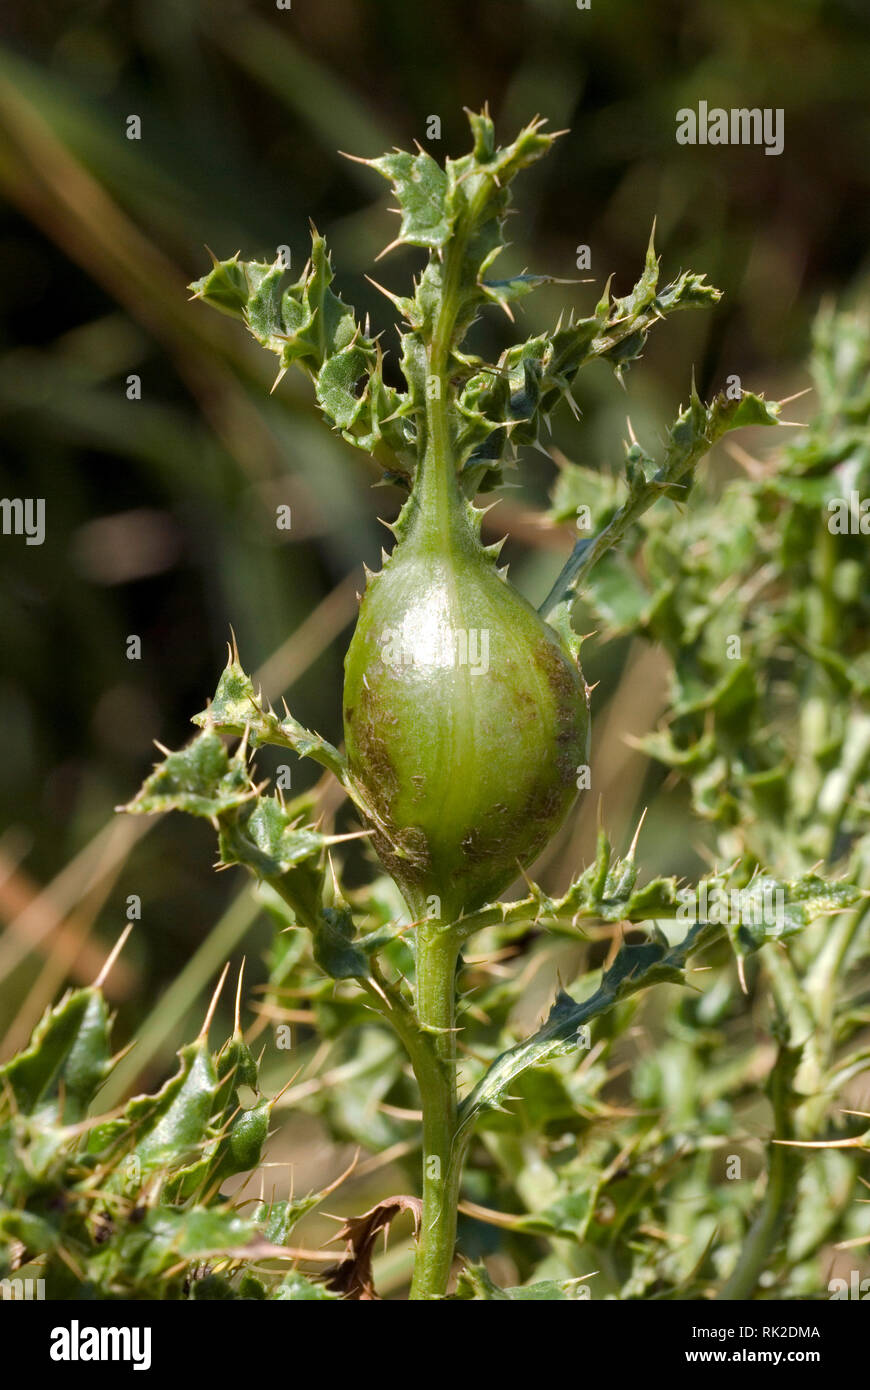
<path fill-rule="evenodd" d="M 345 739 L 381 859 L 418 915 L 453 922 L 548 844 L 577 794 L 589 721 L 578 663 L 496 570 L 452 471 L 429 467 L 363 598 Z"/>

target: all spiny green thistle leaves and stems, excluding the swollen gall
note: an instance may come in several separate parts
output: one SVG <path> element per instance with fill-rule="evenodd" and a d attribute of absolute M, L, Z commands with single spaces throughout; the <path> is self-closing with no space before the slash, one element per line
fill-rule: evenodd
<path fill-rule="evenodd" d="M 607 286 L 592 314 L 571 311 L 496 361 L 466 352 L 482 310 L 510 317 L 553 282 L 491 277 L 511 181 L 553 138 L 534 121 L 498 147 L 486 111 L 470 124 L 471 152 L 443 167 L 424 152 L 363 161 L 392 185 L 393 245 L 428 252 L 413 297 L 388 295 L 403 320 L 402 391 L 368 324 L 334 293 L 317 232 L 289 288 L 281 263 L 238 257 L 193 286 L 278 356 L 281 375 L 302 368 L 327 421 L 411 489 L 399 543 L 432 438 L 471 528 L 466 503 L 541 442 L 584 366 L 605 360 L 623 381 L 656 321 L 719 297 L 693 272 L 659 288 L 650 240 L 627 296 Z M 422 1168 L 422 1200 L 349 1218 L 347 1255 L 322 1284 L 263 1275 L 317 1197 L 242 1216 L 221 1190 L 260 1163 L 274 1108 L 247 1045 L 236 1030 L 213 1054 L 200 1036 L 157 1094 L 92 1115 L 113 1065 L 95 988 L 64 999 L 0 1072 L 7 1268 L 39 1259 L 54 1297 L 78 1280 L 103 1297 L 368 1298 L 371 1238 L 410 1209 L 411 1295 L 442 1298 L 461 1201 L 457 1300 L 580 1298 L 586 1280 L 593 1297 L 621 1300 L 824 1297 L 819 1251 L 867 1230 L 855 1200 L 866 1134 L 842 1104 L 870 1062 L 867 559 L 860 525 L 827 524 L 828 503 L 870 488 L 866 317 L 821 321 L 814 375 L 813 423 L 748 478 L 717 491 L 698 466 L 734 428 L 777 424 L 780 404 L 752 392 L 705 404 L 692 389 L 659 457 L 632 438 L 618 477 L 568 463 L 553 496 L 552 521 L 586 506 L 592 534 L 542 616 L 574 656 L 580 616 L 667 653 L 667 719 L 645 746 L 685 783 L 705 848 L 728 867 L 691 888 L 642 880 L 635 845 L 620 858 L 602 831 L 561 894 L 530 884 L 514 901 L 411 920 L 420 903 L 403 901 L 404 866 L 364 778 L 278 716 L 233 649 L 200 733 L 125 809 L 208 819 L 220 866 L 253 876 L 275 922 L 271 1016 L 304 1004 L 329 1055 L 309 1108 L 335 1137 Z M 347 837 L 324 833 L 313 798 L 285 802 L 254 781 L 249 751 L 265 745 L 335 776 L 391 876 L 360 887 L 339 859 Z M 525 965 L 513 969 L 517 954 Z M 663 1034 L 655 1049 L 649 1019 Z M 807 1143 L 832 1147 L 806 1156 Z M 723 1173 L 735 1158 L 750 1179 Z M 491 1229 L 516 1269 L 506 1287 L 482 1264 Z"/>

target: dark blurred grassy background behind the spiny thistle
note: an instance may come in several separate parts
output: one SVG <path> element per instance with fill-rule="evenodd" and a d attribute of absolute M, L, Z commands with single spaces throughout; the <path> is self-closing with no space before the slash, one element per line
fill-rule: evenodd
<path fill-rule="evenodd" d="M 206 243 L 249 259 L 286 245 L 299 270 L 311 217 L 338 288 L 389 348 L 392 311 L 363 275 L 393 220 L 381 181 L 338 150 L 420 139 L 459 154 L 461 108 L 485 100 L 506 136 L 548 115 L 570 133 L 517 186 L 503 274 L 580 275 L 586 243 L 595 284 L 542 291 L 523 313 L 527 334 L 564 304 L 589 311 L 610 272 L 627 292 L 653 218 L 663 275 L 706 271 L 724 291 L 714 313 L 653 335 L 627 393 L 605 367 L 584 373 L 582 423 L 561 421 L 555 445 L 616 467 L 625 416 L 655 439 L 692 371 L 707 395 L 730 373 L 752 389 L 802 389 L 819 304 L 866 285 L 870 11 L 866 0 L 592 0 L 589 11 L 574 0 L 6 0 L 0 26 L 0 491 L 47 507 L 44 545 L 0 542 L 0 1047 L 21 1045 L 65 981 L 93 979 L 136 894 L 142 920 L 110 991 L 118 1041 L 139 1037 L 121 1081 L 150 1083 L 227 958 L 243 951 L 256 984 L 271 929 L 242 872 L 211 873 L 207 824 L 113 808 L 138 788 L 154 738 L 189 737 L 231 624 L 247 670 L 340 738 L 354 589 L 385 539 L 378 517 L 399 505 L 322 427 L 302 378 L 270 395 L 265 354 L 189 302 Z M 784 153 L 678 146 L 675 111 L 700 99 L 782 107 Z M 432 115 L 441 140 L 425 138 Z M 418 264 L 397 252 L 377 275 L 403 292 Z M 486 352 L 509 341 L 495 314 L 477 332 Z M 140 400 L 126 395 L 132 374 Z M 795 418 L 810 409 L 792 407 Z M 707 467 L 734 463 L 723 452 Z M 493 532 L 510 527 L 514 582 L 538 600 L 571 545 L 570 528 L 535 517 L 553 477 L 532 453 L 491 517 Z M 282 503 L 290 532 L 275 527 Z M 129 635 L 140 660 L 126 657 Z M 702 831 L 630 741 L 656 724 L 663 663 L 602 635 L 584 666 L 600 681 L 593 766 L 616 842 L 650 805 L 645 862 L 691 872 Z M 302 790 L 313 774 L 295 764 L 293 778 Z M 328 794 L 324 809 L 335 812 Z M 588 856 L 595 812 L 560 837 L 545 883 Z M 363 869 L 350 862 L 352 876 Z M 314 1129 L 309 1141 L 322 1177 L 342 1155 Z"/>

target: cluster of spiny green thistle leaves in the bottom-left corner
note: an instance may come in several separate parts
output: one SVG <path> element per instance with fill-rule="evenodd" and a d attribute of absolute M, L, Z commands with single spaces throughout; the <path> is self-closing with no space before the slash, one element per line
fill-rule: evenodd
<path fill-rule="evenodd" d="M 113 1061 L 92 987 L 65 995 L 0 1068 L 3 1276 L 35 1265 L 47 1298 L 325 1297 L 300 1275 L 247 1272 L 289 1258 L 293 1226 L 321 1194 L 252 1215 L 221 1194 L 258 1166 L 274 1105 L 240 1099 L 242 1086 L 258 1090 L 240 1034 L 211 1052 L 203 1031 L 157 1094 L 100 1116 L 92 1105 Z"/>

